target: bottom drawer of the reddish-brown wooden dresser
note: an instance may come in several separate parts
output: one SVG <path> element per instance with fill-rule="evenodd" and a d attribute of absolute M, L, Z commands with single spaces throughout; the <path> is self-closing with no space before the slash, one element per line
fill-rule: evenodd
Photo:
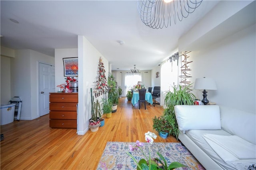
<path fill-rule="evenodd" d="M 51 119 L 50 127 L 51 128 L 77 128 L 76 120 L 62 120 L 62 119 L 60 120 Z"/>

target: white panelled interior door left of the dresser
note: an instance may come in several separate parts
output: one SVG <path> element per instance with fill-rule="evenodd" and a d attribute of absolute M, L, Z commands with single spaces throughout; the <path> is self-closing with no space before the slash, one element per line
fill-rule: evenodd
<path fill-rule="evenodd" d="M 49 113 L 49 93 L 55 92 L 55 67 L 39 63 L 40 117 Z"/>

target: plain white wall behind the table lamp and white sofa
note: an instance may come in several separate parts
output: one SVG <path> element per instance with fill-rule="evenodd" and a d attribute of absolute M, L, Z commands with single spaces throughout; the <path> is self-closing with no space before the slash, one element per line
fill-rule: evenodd
<path fill-rule="evenodd" d="M 208 49 L 191 52 L 192 81 L 199 77 L 216 81 L 217 90 L 208 91 L 209 101 L 255 113 L 255 28 L 250 26 Z M 201 92 L 195 94 L 202 99 Z"/>

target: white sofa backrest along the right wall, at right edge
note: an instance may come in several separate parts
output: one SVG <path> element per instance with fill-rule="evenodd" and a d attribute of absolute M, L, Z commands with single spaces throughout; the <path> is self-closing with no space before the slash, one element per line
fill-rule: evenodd
<path fill-rule="evenodd" d="M 256 115 L 230 107 L 220 106 L 223 130 L 256 144 Z"/>

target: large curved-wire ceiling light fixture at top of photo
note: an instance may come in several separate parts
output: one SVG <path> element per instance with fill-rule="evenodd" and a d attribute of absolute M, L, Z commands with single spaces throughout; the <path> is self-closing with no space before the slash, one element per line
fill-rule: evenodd
<path fill-rule="evenodd" d="M 165 2 L 168 1 L 168 2 Z M 150 28 L 167 28 L 173 20 L 182 21 L 194 12 L 203 0 L 138 0 L 142 22 Z"/>

